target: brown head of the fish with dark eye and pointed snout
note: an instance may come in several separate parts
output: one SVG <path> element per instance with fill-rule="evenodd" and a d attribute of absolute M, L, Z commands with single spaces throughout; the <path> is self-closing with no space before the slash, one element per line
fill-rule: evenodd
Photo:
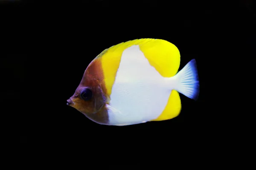
<path fill-rule="evenodd" d="M 101 61 L 96 58 L 86 68 L 75 93 L 67 100 L 67 105 L 76 108 L 93 122 L 108 125 L 108 113 L 105 108 L 108 98 Z"/>

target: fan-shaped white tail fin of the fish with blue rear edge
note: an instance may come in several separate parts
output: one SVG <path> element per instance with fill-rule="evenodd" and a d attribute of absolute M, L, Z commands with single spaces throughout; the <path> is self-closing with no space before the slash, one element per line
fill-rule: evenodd
<path fill-rule="evenodd" d="M 176 90 L 189 97 L 197 100 L 199 95 L 199 79 L 195 59 L 188 62 L 182 70 L 175 75 Z"/>

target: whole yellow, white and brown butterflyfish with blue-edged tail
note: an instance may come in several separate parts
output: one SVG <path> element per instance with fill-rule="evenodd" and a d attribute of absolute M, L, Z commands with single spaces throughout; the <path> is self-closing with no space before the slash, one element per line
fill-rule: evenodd
<path fill-rule="evenodd" d="M 67 105 L 100 125 L 173 119 L 181 112 L 179 93 L 199 96 L 195 59 L 179 67 L 180 51 L 169 41 L 143 38 L 113 45 L 90 62 Z"/>

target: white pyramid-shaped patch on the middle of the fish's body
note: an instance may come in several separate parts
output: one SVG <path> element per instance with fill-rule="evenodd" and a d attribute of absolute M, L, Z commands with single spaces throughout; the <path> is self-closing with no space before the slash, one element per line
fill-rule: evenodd
<path fill-rule="evenodd" d="M 139 45 L 125 49 L 110 96 L 109 125 L 133 125 L 156 119 L 172 91 L 167 82 L 149 64 Z"/>

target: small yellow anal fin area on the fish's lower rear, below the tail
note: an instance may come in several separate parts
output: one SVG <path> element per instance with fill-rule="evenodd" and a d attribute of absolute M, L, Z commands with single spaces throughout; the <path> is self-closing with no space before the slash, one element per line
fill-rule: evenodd
<path fill-rule="evenodd" d="M 166 108 L 161 113 L 157 119 L 153 119 L 151 121 L 161 121 L 161 120 L 168 120 L 177 117 L 181 111 L 181 102 L 180 102 L 180 95 L 177 91 L 172 90 L 171 95 L 169 96 Z"/>

